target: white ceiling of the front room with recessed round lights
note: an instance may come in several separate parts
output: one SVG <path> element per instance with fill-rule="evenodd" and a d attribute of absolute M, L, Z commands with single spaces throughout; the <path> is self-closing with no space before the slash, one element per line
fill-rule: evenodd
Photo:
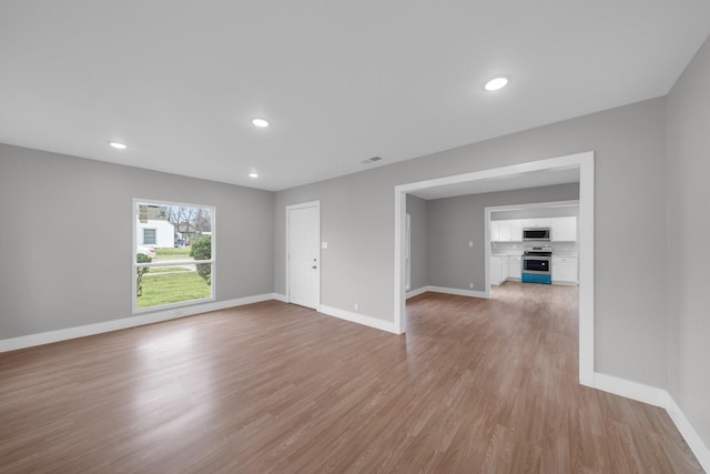
<path fill-rule="evenodd" d="M 3 0 L 0 142 L 281 190 L 665 95 L 708 34 L 708 0 Z"/>

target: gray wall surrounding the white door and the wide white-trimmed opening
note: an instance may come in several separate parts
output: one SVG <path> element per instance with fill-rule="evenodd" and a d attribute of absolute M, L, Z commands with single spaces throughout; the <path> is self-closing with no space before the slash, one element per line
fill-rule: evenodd
<path fill-rule="evenodd" d="M 665 387 L 665 99 L 278 192 L 275 291 L 285 292 L 285 206 L 321 200 L 322 303 L 352 311 L 358 302 L 393 321 L 396 184 L 584 151 L 596 153 L 596 370 Z"/>

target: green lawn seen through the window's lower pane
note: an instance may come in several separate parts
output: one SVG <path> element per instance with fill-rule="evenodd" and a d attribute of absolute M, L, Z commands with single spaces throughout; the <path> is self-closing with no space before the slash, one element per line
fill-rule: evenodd
<path fill-rule="evenodd" d="M 200 300 L 210 297 L 210 285 L 195 272 L 165 273 L 153 276 L 146 274 L 143 276 L 143 294 L 138 297 L 138 307 Z"/>

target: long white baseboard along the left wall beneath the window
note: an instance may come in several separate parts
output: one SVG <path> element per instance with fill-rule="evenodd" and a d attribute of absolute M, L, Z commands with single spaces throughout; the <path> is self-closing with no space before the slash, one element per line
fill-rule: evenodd
<path fill-rule="evenodd" d="M 226 301 L 214 301 L 211 303 L 195 304 L 194 306 L 175 307 L 149 314 L 121 317 L 119 320 L 105 321 L 101 323 L 67 327 L 63 330 L 48 331 L 19 337 L 11 337 L 0 340 L 0 352 L 17 351 L 18 349 L 50 344 L 52 342 L 68 341 L 70 339 L 77 337 L 85 337 L 89 335 L 119 331 L 128 327 L 142 326 L 145 324 L 160 323 L 162 321 L 176 320 L 179 317 L 193 316 L 195 314 L 207 313 L 210 311 L 225 310 L 227 307 L 242 306 L 244 304 L 260 303 L 262 301 L 275 299 L 276 295 L 274 293 L 265 293 L 254 296 L 237 297 Z"/>

